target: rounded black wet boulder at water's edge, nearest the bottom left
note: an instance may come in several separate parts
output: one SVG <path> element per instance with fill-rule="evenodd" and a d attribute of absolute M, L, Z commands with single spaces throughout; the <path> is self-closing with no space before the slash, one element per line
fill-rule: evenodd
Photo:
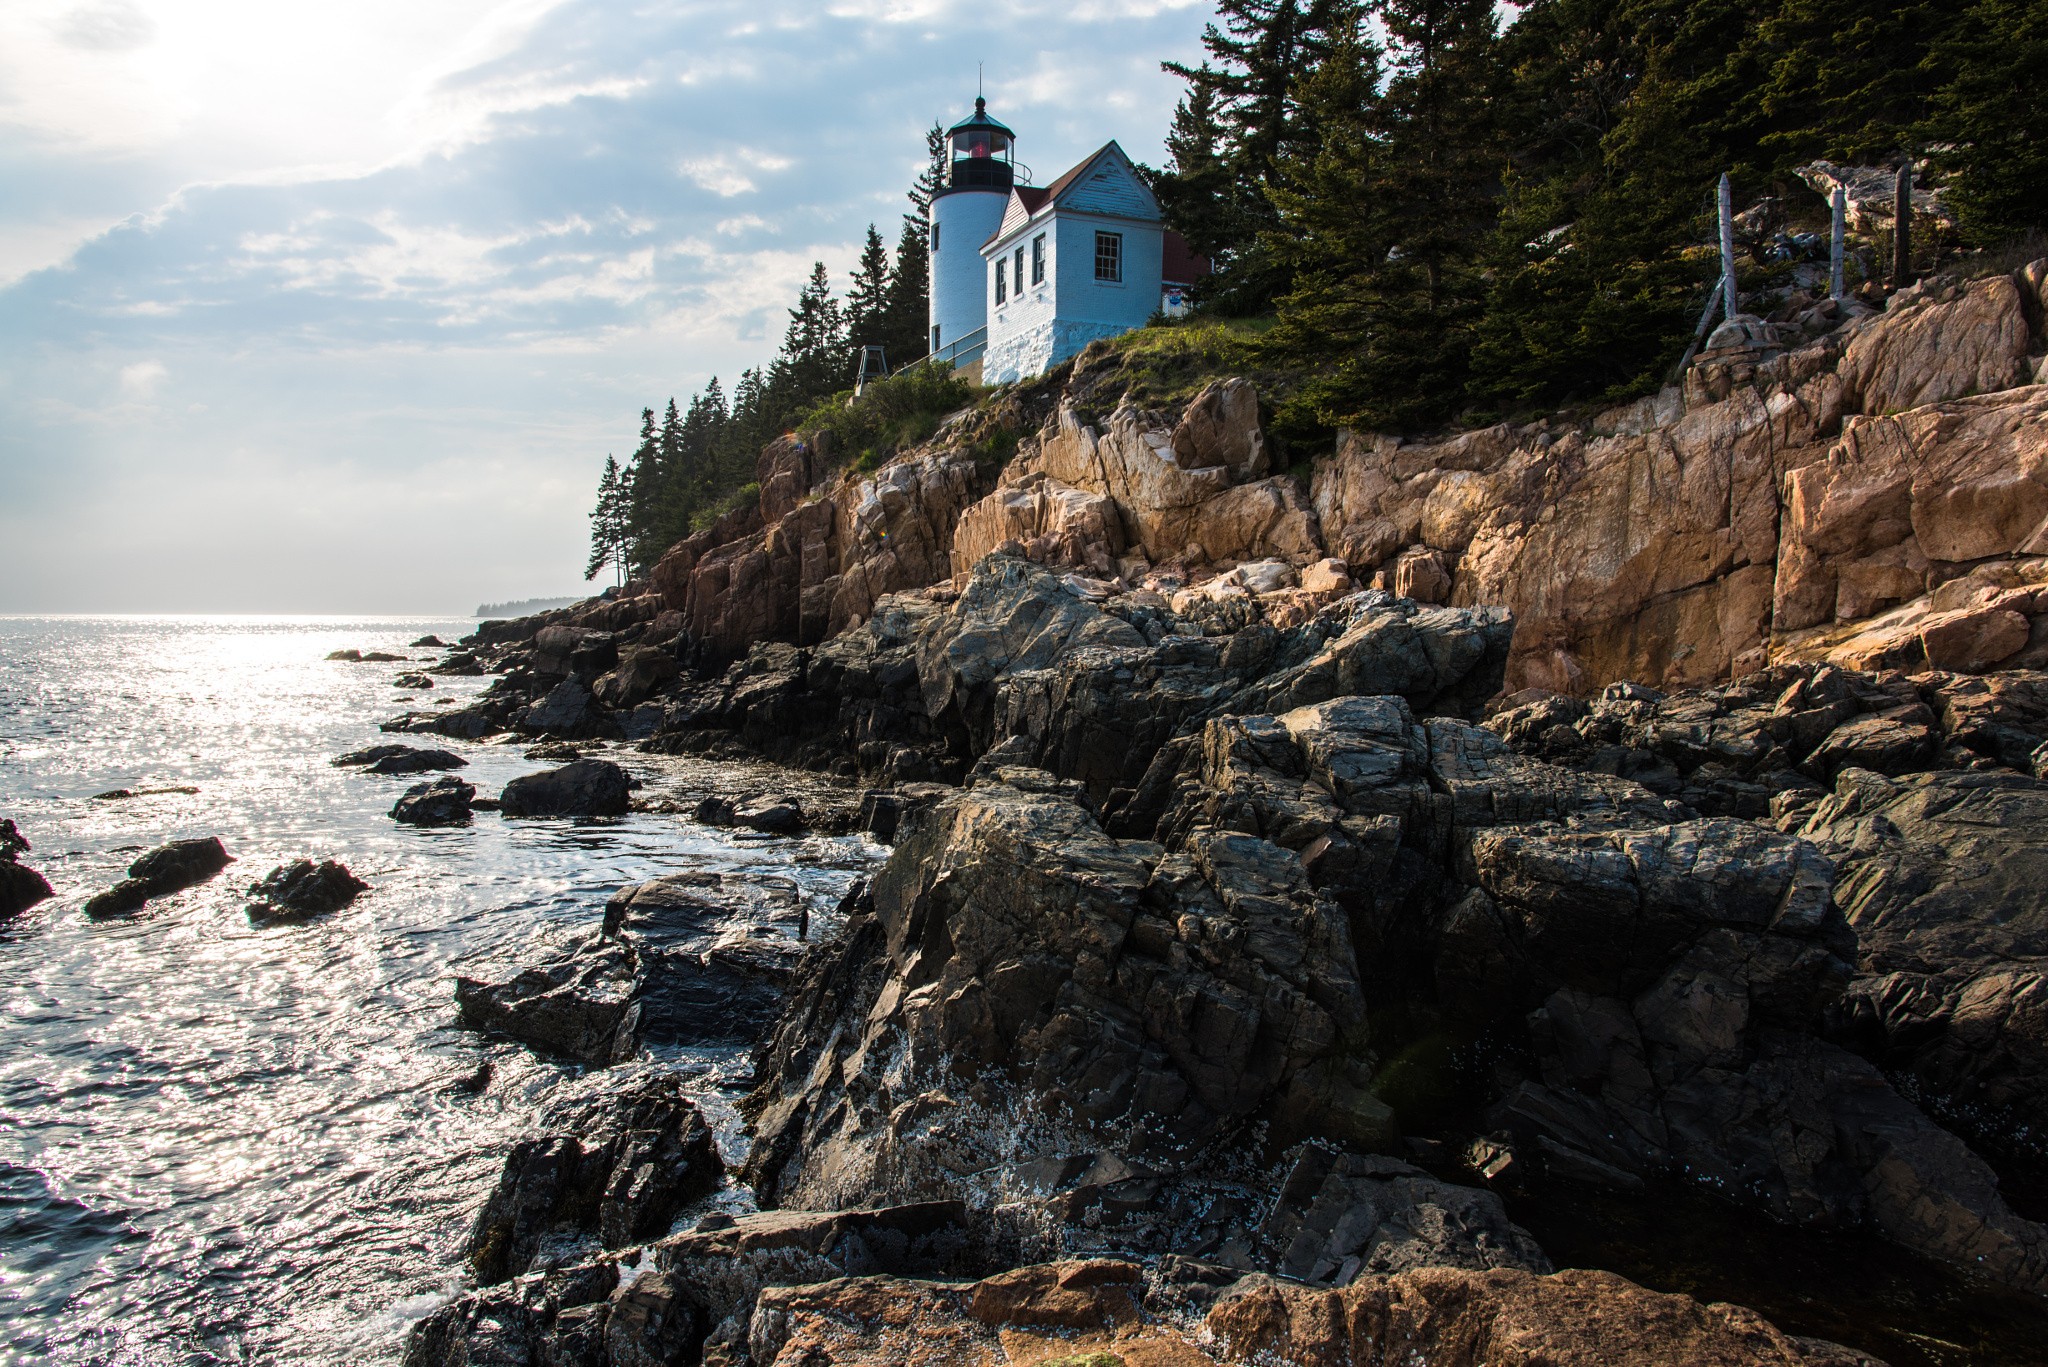
<path fill-rule="evenodd" d="M 492 1285 L 526 1273 L 549 1238 L 594 1236 L 604 1248 L 659 1238 L 723 1172 L 711 1127 L 680 1082 L 645 1078 L 514 1144 L 465 1256 Z"/>

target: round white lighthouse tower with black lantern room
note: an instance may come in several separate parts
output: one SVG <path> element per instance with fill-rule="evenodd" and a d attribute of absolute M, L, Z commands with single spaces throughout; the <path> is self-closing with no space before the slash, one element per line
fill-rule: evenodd
<path fill-rule="evenodd" d="M 952 164 L 932 195 L 932 357 L 971 365 L 989 326 L 989 277 L 981 244 L 995 236 L 1016 184 L 1016 133 L 989 119 L 987 100 L 946 129 Z"/>

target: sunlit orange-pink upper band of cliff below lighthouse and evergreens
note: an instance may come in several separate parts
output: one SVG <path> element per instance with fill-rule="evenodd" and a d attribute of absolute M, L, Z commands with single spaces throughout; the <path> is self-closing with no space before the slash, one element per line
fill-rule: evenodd
<path fill-rule="evenodd" d="M 1810 332 L 1755 320 L 1655 398 L 1440 439 L 1343 432 L 1307 478 L 1276 469 L 1247 381 L 1147 410 L 1096 346 L 881 469 L 772 443 L 758 506 L 559 619 L 659 621 L 733 658 L 823 641 L 1008 549 L 1276 625 L 1354 584 L 1507 607 L 1509 687 L 1581 695 L 1778 660 L 2042 664 L 2044 293 L 2036 262 L 1882 314 L 1815 309 Z"/>

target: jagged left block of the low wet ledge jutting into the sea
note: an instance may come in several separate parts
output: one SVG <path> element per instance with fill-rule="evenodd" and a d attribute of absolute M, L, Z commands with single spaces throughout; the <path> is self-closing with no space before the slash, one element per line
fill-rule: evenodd
<path fill-rule="evenodd" d="M 631 1058 L 639 1037 L 637 959 L 602 937 L 588 937 L 551 963 L 508 982 L 455 980 L 465 1029 L 510 1035 L 584 1064 Z"/>

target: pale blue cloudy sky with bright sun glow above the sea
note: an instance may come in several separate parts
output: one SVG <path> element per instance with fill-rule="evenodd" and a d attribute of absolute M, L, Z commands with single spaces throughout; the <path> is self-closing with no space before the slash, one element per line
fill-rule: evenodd
<path fill-rule="evenodd" d="M 1157 164 L 1206 0 L 6 0 L 0 613 L 582 588 L 643 406 L 772 357 L 973 107 Z"/>

